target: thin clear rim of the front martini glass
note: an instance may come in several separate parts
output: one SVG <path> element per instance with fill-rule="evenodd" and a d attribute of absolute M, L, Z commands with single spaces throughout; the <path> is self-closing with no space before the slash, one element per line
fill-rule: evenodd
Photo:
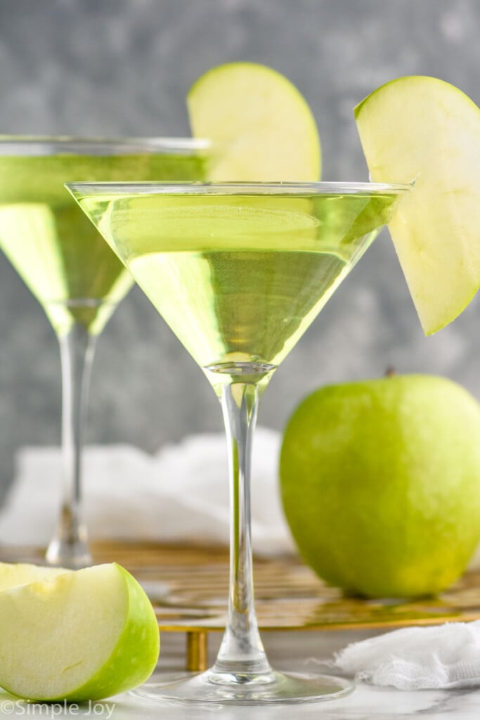
<path fill-rule="evenodd" d="M 65 187 L 73 193 L 116 195 L 178 194 L 178 195 L 322 195 L 322 194 L 394 194 L 412 189 L 414 183 L 379 182 L 308 182 L 308 181 L 68 181 Z"/>

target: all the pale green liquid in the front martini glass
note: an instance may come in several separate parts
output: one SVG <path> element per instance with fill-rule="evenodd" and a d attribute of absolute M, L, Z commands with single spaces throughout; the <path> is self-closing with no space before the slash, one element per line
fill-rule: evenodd
<path fill-rule="evenodd" d="M 132 195 L 81 206 L 203 368 L 277 366 L 389 217 L 393 194 Z"/>

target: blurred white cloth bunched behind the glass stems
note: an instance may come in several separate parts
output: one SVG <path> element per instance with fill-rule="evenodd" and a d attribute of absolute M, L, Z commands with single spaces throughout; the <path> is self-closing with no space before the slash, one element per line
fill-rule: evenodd
<path fill-rule="evenodd" d="M 258 554 L 293 552 L 279 496 L 281 435 L 257 428 L 253 442 L 252 534 Z M 84 517 L 97 539 L 228 544 L 227 443 L 223 433 L 190 436 L 150 455 L 88 446 L 83 458 Z M 27 447 L 0 510 L 1 544 L 46 544 L 60 506 L 59 448 Z"/>

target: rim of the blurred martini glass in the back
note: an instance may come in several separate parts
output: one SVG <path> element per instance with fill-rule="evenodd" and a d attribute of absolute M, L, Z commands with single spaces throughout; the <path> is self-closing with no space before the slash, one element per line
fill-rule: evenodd
<path fill-rule="evenodd" d="M 157 153 L 189 154 L 208 150 L 212 143 L 206 138 L 179 138 L 167 135 L 145 137 L 77 137 L 75 135 L 4 135 L 0 134 L 0 155 L 45 156 L 88 152 L 94 155 L 137 153 L 155 150 Z M 5 152 L 7 150 L 7 152 Z"/>

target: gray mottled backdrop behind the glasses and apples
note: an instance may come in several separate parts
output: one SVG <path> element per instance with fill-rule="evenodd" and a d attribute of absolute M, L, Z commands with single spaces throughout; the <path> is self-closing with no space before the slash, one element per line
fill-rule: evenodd
<path fill-rule="evenodd" d="M 352 108 L 406 74 L 480 101 L 479 0 L 0 0 L 0 133 L 178 135 L 200 73 L 254 60 L 299 86 L 320 126 L 324 179 L 366 179 Z M 320 384 L 445 374 L 480 397 L 474 301 L 424 338 L 386 233 L 273 379 L 261 422 L 284 426 Z M 0 487 L 22 445 L 57 444 L 60 364 L 42 310 L 0 258 Z M 207 381 L 137 289 L 99 342 L 90 442 L 155 450 L 221 427 Z"/>

